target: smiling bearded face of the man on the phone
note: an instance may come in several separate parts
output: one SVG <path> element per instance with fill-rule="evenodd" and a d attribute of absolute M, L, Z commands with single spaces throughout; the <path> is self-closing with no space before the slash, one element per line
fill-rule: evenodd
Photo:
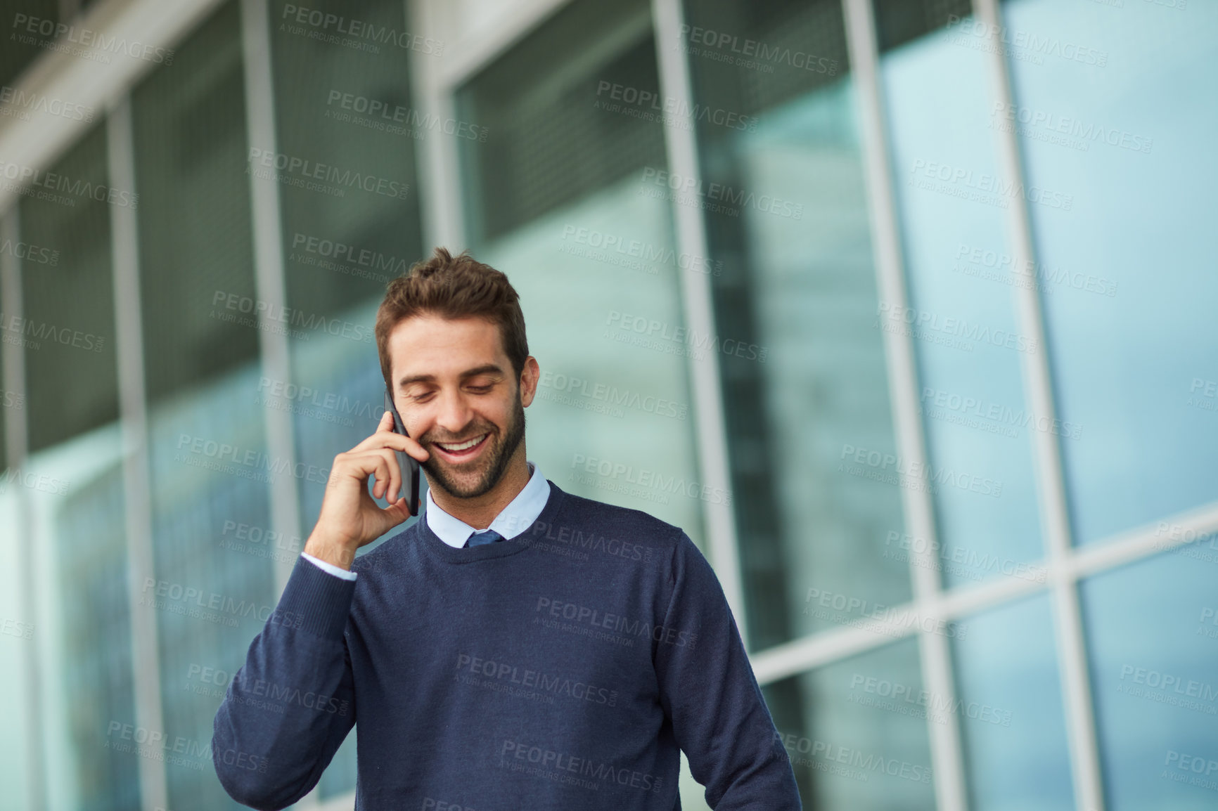
<path fill-rule="evenodd" d="M 518 385 L 499 328 L 481 318 L 407 318 L 387 349 L 402 423 L 431 454 L 428 480 L 458 498 L 490 492 L 524 440 L 537 362 Z"/>

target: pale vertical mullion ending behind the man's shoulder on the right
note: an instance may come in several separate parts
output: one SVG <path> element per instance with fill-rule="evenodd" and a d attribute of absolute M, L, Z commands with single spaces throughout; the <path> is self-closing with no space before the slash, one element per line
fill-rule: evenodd
<path fill-rule="evenodd" d="M 655 26 L 660 96 L 674 99 L 677 110 L 693 110 L 689 65 L 678 49 L 666 47 L 666 44 L 681 39 L 681 26 L 685 22 L 681 0 L 652 0 L 652 18 Z M 694 128 L 665 127 L 664 142 L 669 170 L 683 178 L 694 178 L 700 185 L 702 167 L 698 163 L 698 139 Z M 674 201 L 672 218 L 676 223 L 677 250 L 688 256 L 708 256 L 706 222 L 702 209 Z M 702 335 L 715 335 L 710 276 L 694 270 L 682 270 L 681 297 L 685 321 L 689 330 Z M 698 463 L 703 483 L 730 492 L 732 482 L 727 455 L 727 421 L 723 415 L 719 357 L 714 352 L 708 352 L 702 358 L 691 354 L 688 360 L 697 416 Z M 736 616 L 736 625 L 747 647 L 744 585 L 733 509 L 726 503 L 713 504 L 704 500 L 702 513 L 715 574 L 723 587 L 727 604 Z"/>

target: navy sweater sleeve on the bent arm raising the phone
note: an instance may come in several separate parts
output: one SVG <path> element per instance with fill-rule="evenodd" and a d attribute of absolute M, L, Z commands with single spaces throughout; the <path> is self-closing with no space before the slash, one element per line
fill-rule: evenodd
<path fill-rule="evenodd" d="M 343 631 L 356 582 L 297 559 L 216 712 L 212 761 L 229 795 L 278 810 L 317 784 L 356 721 Z"/>

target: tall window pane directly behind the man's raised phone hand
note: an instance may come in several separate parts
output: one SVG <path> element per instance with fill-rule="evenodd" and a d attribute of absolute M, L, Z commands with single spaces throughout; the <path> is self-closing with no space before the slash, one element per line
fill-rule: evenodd
<path fill-rule="evenodd" d="M 369 30 L 406 29 L 401 2 L 326 0 L 309 7 L 359 19 Z M 287 9 L 272 4 L 270 11 L 274 157 L 302 168 L 279 170 L 275 179 L 266 164 L 276 161 L 266 150 L 251 151 L 250 166 L 259 170 L 256 183 L 273 184 L 280 196 L 287 307 L 301 328 L 289 337 L 291 380 L 259 379 L 255 402 L 289 415 L 297 460 L 320 471 L 373 434 L 384 413 L 376 307 L 385 285 L 424 253 L 415 147 L 424 138 L 456 135 L 412 106 L 412 51 L 385 37 L 375 47 L 311 37 L 318 29 Z M 324 181 L 313 183 L 304 173 L 318 166 L 329 168 Z M 322 475 L 298 481 L 303 537 L 276 550 L 289 561 L 317 524 L 325 492 Z M 354 790 L 354 742 L 352 733 L 322 776 L 323 799 Z"/>

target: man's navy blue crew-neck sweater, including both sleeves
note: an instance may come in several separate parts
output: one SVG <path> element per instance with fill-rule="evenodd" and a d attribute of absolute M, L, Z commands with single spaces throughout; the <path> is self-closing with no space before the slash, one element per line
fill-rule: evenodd
<path fill-rule="evenodd" d="M 417 521 L 297 560 L 216 714 L 216 772 L 256 809 L 317 784 L 359 723 L 356 809 L 674 811 L 678 748 L 719 811 L 800 809 L 719 581 L 678 527 L 551 482 L 514 538 Z"/>

